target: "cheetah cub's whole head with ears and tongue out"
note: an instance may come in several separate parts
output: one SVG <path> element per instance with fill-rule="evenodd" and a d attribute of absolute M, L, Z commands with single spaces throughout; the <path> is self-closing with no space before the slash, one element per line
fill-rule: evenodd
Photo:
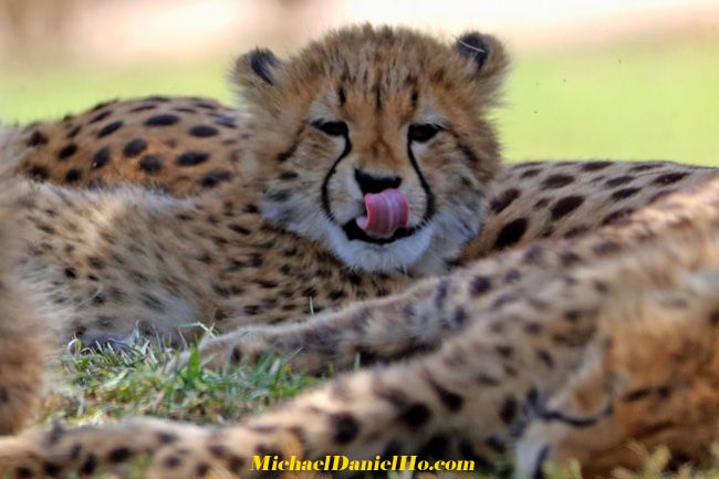
<path fill-rule="evenodd" d="M 489 35 L 369 25 L 286 61 L 240 58 L 263 215 L 351 268 L 444 271 L 481 226 L 499 156 L 486 114 L 507 64 Z"/>

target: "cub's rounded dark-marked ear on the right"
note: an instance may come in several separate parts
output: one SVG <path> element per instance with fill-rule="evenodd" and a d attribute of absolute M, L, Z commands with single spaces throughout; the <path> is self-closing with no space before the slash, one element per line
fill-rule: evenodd
<path fill-rule="evenodd" d="M 509 55 L 502 42 L 492 35 L 467 32 L 457 39 L 460 55 L 472 61 L 470 74 L 493 91 L 501 84 L 509 67 Z"/>

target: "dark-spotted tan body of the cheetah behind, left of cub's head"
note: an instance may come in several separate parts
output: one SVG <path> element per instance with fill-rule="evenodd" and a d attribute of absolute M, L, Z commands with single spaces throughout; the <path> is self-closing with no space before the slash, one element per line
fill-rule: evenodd
<path fill-rule="evenodd" d="M 146 124 L 163 116 L 177 121 Z M 18 171 L 37 180 L 90 188 L 129 181 L 186 196 L 241 179 L 240 169 L 248 168 L 240 164 L 248 133 L 238 116 L 210 98 L 105 102 L 79 115 L 18 129 L 17 153 L 4 158 L 17 158 Z M 116 131 L 98 137 L 116 122 L 122 122 Z M 177 158 L 187 152 L 205 152 L 208 158 L 178 166 Z"/>

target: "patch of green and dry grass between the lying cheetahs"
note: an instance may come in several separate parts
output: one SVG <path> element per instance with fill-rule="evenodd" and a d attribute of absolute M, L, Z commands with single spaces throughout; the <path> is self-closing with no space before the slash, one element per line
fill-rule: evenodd
<path fill-rule="evenodd" d="M 150 415 L 226 424 L 296 395 L 320 379 L 291 371 L 288 358 L 212 371 L 192 347 L 187 365 L 168 368 L 176 352 L 137 340 L 122 351 L 76 347 L 61 360 L 61 377 L 42 421 L 108 423 Z M 169 369 L 169 371 L 168 371 Z"/>

